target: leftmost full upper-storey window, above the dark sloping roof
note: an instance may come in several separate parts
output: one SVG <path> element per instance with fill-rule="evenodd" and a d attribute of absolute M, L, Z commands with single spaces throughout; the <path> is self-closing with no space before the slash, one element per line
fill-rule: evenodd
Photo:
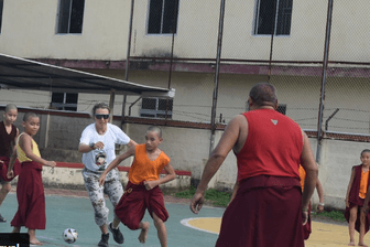
<path fill-rule="evenodd" d="M 83 33 L 85 0 L 59 0 L 57 33 Z"/>

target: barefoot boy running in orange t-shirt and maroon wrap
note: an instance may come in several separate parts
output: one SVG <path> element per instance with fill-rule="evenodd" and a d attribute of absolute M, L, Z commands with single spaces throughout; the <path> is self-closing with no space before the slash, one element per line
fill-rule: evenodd
<path fill-rule="evenodd" d="M 170 158 L 157 148 L 162 140 L 162 130 L 155 126 L 149 127 L 145 143 L 132 146 L 127 152 L 117 157 L 101 174 L 99 184 L 105 183 L 106 174 L 121 161 L 134 155 L 126 192 L 115 208 L 116 215 L 130 229 L 141 229 L 139 241 L 143 244 L 146 240 L 149 223 L 142 222 L 142 218 L 148 208 L 157 229 L 161 246 L 166 247 L 167 233 L 164 222 L 167 221 L 168 213 L 159 185 L 174 180 L 176 174 Z M 160 179 L 163 169 L 167 174 Z"/>

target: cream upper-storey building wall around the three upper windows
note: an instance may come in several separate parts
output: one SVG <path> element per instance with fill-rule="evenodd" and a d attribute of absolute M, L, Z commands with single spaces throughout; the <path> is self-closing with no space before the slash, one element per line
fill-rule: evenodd
<path fill-rule="evenodd" d="M 133 56 L 168 56 L 172 35 L 146 33 L 149 0 L 135 1 Z M 254 35 L 257 1 L 228 1 L 225 8 L 224 58 L 269 60 L 270 35 Z M 57 34 L 58 0 L 4 1 L 0 52 L 32 58 L 126 60 L 130 0 L 85 1 L 81 34 Z M 330 60 L 367 62 L 368 2 L 334 6 Z M 215 58 L 219 1 L 179 1 L 175 57 Z M 274 39 L 273 60 L 322 61 L 326 31 L 325 1 L 294 1 L 290 35 Z M 26 41 L 26 42 L 24 42 Z M 313 45 L 316 44 L 316 45 Z M 289 52 L 287 52 L 289 51 Z"/>

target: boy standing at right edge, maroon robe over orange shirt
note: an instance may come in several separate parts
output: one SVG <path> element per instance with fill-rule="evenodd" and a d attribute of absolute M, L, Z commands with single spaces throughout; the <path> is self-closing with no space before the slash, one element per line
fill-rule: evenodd
<path fill-rule="evenodd" d="M 346 213 L 345 217 L 348 222 L 349 228 L 349 246 L 355 246 L 355 229 L 360 233 L 359 246 L 367 246 L 363 244 L 364 234 L 369 230 L 370 214 L 361 211 L 364 205 L 370 176 L 370 150 L 364 149 L 361 152 L 361 164 L 352 167 L 351 176 L 349 180 L 347 195 L 346 195 Z"/>

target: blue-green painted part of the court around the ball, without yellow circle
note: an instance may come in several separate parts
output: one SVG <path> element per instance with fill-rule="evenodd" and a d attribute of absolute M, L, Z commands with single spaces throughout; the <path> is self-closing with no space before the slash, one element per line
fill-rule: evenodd
<path fill-rule="evenodd" d="M 113 217 L 112 205 L 107 200 L 109 219 Z M 12 227 L 10 222 L 18 208 L 17 195 L 11 193 L 7 196 L 1 206 L 1 214 L 7 218 L 7 223 L 0 223 L 1 233 L 10 233 Z M 217 235 L 206 232 L 196 230 L 181 224 L 184 218 L 195 217 L 188 205 L 166 203 L 170 218 L 166 222 L 167 243 L 174 247 L 209 247 L 215 246 Z M 202 217 L 221 217 L 224 208 L 204 207 L 199 213 Z M 160 247 L 156 236 L 156 229 L 152 218 L 146 213 L 144 221 L 150 222 L 151 228 L 148 234 L 146 243 L 140 244 L 138 236 L 140 230 L 130 230 L 123 225 L 120 229 L 124 236 L 123 245 L 118 245 L 112 235 L 109 237 L 109 246 L 145 246 Z M 74 244 L 67 244 L 62 239 L 62 233 L 65 228 L 75 228 L 78 233 L 78 239 Z M 22 233 L 26 233 L 23 227 Z M 94 211 L 89 198 L 68 197 L 46 195 L 46 229 L 36 230 L 36 237 L 44 243 L 43 246 L 97 246 L 100 240 L 100 230 L 94 221 Z M 0 243 L 1 244 L 1 243 Z"/>

